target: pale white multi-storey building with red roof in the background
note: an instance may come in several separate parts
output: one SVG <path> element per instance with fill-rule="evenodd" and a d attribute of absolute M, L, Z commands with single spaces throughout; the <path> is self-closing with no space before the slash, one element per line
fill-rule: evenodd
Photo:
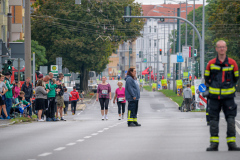
<path fill-rule="evenodd" d="M 186 18 L 186 4 L 159 4 L 159 5 L 142 5 L 144 16 L 177 16 L 177 8 L 181 6 L 180 16 Z M 193 10 L 193 5 L 187 4 L 187 14 Z M 196 4 L 195 9 L 202 6 L 201 4 Z M 175 11 L 175 12 L 174 12 Z M 183 24 L 184 22 L 181 22 Z M 177 29 L 177 20 L 173 19 L 146 19 L 144 24 L 144 29 L 142 30 L 143 37 L 139 37 L 136 40 L 136 52 L 138 56 L 136 57 L 137 71 L 140 75 L 143 70 L 152 66 L 153 72 L 156 74 L 164 72 L 166 76 L 166 64 L 162 63 L 163 56 L 170 52 L 170 41 L 169 35 L 172 33 L 173 29 Z M 162 50 L 162 56 L 159 56 L 159 70 L 157 71 L 157 43 L 158 49 Z M 191 44 L 187 44 L 191 45 Z M 139 53 L 143 53 L 143 57 L 140 57 Z M 164 67 L 165 65 L 165 67 Z M 172 72 L 172 66 L 170 67 L 170 72 Z"/>

